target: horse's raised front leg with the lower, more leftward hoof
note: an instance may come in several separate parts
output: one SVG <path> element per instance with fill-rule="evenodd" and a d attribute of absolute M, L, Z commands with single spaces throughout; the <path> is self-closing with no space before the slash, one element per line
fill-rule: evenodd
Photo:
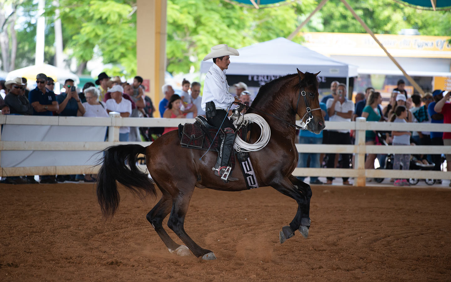
<path fill-rule="evenodd" d="M 287 177 L 281 178 L 279 181 L 272 183 L 271 186 L 282 194 L 295 199 L 298 203 L 298 210 L 295 218 L 293 218 L 289 226 L 282 227 L 282 231 L 280 231 L 279 239 L 282 244 L 285 240 L 293 237 L 295 235 L 295 231 L 301 226 L 303 209 L 306 207 L 307 200 L 306 197 L 298 190 L 297 186 L 293 185 Z"/>

